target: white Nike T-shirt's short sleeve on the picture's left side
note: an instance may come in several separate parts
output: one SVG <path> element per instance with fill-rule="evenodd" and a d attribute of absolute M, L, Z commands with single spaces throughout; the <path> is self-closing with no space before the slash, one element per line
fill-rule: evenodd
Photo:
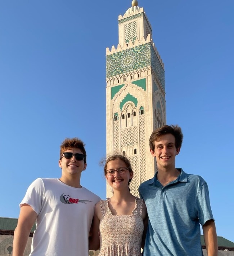
<path fill-rule="evenodd" d="M 41 178 L 33 181 L 32 184 L 28 187 L 22 202 L 19 204 L 19 207 L 21 208 L 22 204 L 28 204 L 32 207 L 33 211 L 39 215 L 41 211 L 44 190 L 45 187 Z"/>

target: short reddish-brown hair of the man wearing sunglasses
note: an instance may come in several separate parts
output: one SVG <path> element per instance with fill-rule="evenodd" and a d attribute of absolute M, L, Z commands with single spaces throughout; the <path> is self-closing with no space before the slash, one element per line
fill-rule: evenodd
<path fill-rule="evenodd" d="M 60 145 L 60 160 L 62 159 L 63 153 L 68 149 L 80 149 L 81 152 L 84 154 L 84 163 L 86 163 L 86 151 L 85 151 L 85 144 L 82 140 L 78 138 L 66 138 L 62 144 Z"/>

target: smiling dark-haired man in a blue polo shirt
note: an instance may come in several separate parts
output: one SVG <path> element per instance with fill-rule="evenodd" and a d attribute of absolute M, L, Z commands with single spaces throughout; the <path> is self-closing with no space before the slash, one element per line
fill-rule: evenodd
<path fill-rule="evenodd" d="M 175 168 L 183 133 L 164 125 L 150 136 L 158 171 L 139 186 L 149 216 L 143 256 L 201 256 L 200 224 L 208 256 L 217 256 L 217 235 L 207 183 L 201 176 Z"/>

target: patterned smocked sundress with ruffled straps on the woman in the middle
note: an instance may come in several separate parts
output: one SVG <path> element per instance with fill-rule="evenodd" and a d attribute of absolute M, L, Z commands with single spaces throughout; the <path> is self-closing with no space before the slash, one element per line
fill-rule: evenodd
<path fill-rule="evenodd" d="M 99 256 L 141 256 L 143 199 L 135 199 L 131 215 L 113 215 L 108 202 L 109 198 L 100 202 L 103 219 L 100 221 Z"/>

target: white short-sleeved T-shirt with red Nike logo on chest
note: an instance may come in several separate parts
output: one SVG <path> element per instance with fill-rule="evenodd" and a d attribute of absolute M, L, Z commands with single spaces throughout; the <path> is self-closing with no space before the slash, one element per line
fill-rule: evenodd
<path fill-rule="evenodd" d="M 37 213 L 30 256 L 88 256 L 94 206 L 100 198 L 85 187 L 77 189 L 57 178 L 38 178 L 22 204 Z"/>

